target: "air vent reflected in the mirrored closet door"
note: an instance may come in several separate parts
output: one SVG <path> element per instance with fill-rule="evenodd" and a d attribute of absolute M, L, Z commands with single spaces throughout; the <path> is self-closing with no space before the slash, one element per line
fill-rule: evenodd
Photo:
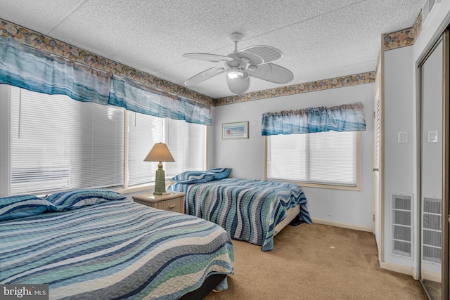
<path fill-rule="evenodd" d="M 442 199 L 422 198 L 422 259 L 431 263 L 442 262 Z"/>

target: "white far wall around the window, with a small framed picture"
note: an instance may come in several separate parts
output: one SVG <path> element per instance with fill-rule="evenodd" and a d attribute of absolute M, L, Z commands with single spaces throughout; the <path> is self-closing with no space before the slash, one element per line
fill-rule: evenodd
<path fill-rule="evenodd" d="M 264 138 L 261 119 L 265 112 L 362 102 L 366 131 L 361 132 L 361 191 L 303 188 L 313 219 L 342 226 L 372 228 L 373 96 L 375 84 L 362 84 L 292 96 L 266 98 L 214 107 L 214 165 L 231 167 L 234 178 L 264 178 Z M 221 124 L 249 122 L 249 138 L 222 140 Z"/>

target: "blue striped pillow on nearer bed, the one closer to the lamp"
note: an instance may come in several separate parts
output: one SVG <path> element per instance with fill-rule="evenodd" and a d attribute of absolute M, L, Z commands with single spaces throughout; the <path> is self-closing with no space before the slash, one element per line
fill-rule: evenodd
<path fill-rule="evenodd" d="M 88 189 L 55 193 L 47 196 L 45 199 L 53 203 L 58 208 L 58 211 L 65 211 L 106 201 L 125 200 L 127 197 L 117 193 L 115 190 Z"/>

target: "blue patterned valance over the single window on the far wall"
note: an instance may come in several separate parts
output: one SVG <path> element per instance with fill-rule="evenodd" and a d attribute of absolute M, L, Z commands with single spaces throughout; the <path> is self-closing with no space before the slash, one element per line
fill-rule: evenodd
<path fill-rule="evenodd" d="M 361 102 L 333 107 L 311 107 L 283 110 L 262 115 L 263 136 L 320 131 L 366 130 L 364 106 Z"/>

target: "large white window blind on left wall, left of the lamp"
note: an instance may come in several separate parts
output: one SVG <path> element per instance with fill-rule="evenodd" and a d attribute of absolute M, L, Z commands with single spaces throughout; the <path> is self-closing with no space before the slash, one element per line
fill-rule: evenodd
<path fill-rule="evenodd" d="M 11 195 L 123 185 L 122 108 L 10 91 Z"/>

